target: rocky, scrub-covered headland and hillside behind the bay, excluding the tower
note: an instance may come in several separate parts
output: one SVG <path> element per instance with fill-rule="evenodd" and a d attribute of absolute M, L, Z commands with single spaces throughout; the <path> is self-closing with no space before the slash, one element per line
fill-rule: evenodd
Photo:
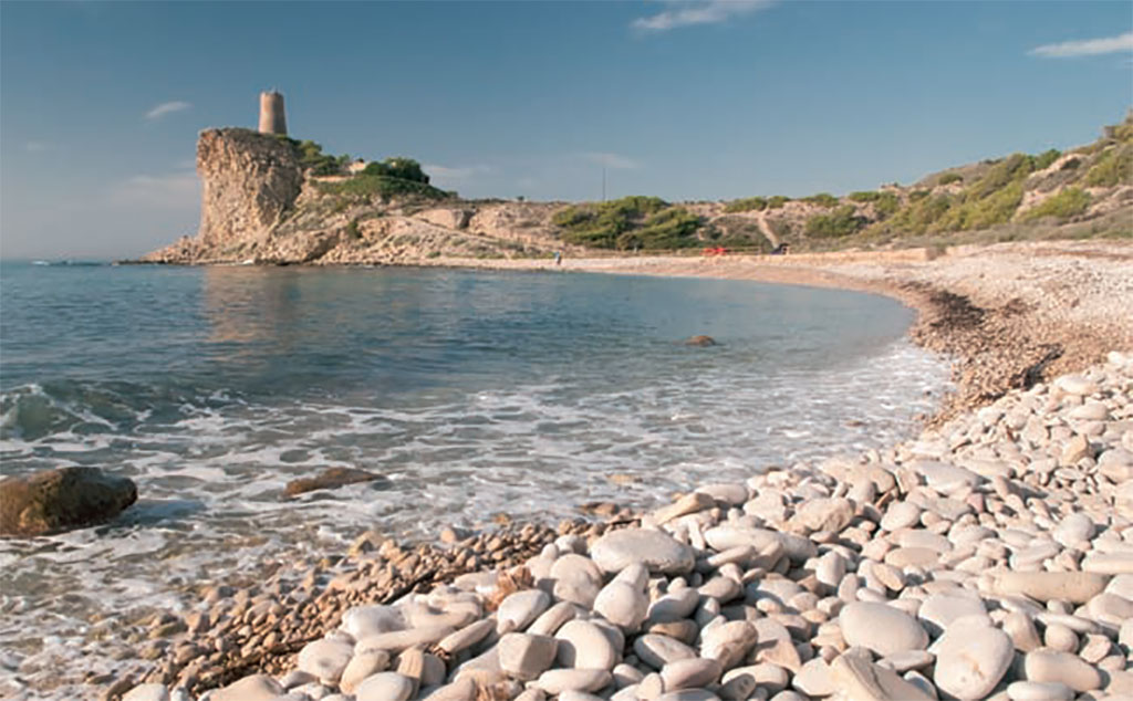
<path fill-rule="evenodd" d="M 914 185 L 792 199 L 671 204 L 466 200 L 429 185 L 409 159 L 348 172 L 313 142 L 210 129 L 195 238 L 145 262 L 415 264 L 659 250 L 769 253 L 898 248 L 1034 238 L 1133 236 L 1133 113 L 1094 143 L 1012 154 Z"/>

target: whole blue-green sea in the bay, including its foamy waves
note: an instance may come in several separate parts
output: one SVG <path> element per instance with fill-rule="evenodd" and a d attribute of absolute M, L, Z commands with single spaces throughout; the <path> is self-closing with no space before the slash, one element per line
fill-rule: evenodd
<path fill-rule="evenodd" d="M 0 679 L 120 667 L 121 626 L 366 530 L 553 524 L 891 445 L 948 387 L 912 322 L 742 281 L 0 263 L 0 473 L 95 465 L 139 493 L 0 540 Z M 331 467 L 381 479 L 283 498 Z"/>

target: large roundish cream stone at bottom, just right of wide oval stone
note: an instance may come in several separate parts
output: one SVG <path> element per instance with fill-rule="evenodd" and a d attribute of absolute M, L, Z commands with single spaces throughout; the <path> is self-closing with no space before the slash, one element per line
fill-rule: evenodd
<path fill-rule="evenodd" d="M 982 699 L 1007 673 L 1015 647 L 995 627 L 957 625 L 936 646 L 936 685 L 957 699 Z"/>

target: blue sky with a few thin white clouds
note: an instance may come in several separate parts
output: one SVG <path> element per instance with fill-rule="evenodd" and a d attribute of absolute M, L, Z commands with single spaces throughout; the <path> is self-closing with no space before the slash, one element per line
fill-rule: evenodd
<path fill-rule="evenodd" d="M 2 2 L 0 256 L 194 233 L 197 132 L 271 87 L 292 136 L 466 196 L 841 194 L 1092 140 L 1133 5 Z"/>

